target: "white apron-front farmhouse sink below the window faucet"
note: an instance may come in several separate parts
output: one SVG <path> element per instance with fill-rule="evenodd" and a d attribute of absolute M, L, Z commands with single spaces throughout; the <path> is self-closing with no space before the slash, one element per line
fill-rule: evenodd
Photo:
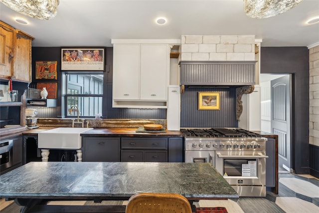
<path fill-rule="evenodd" d="M 81 133 L 93 128 L 59 127 L 38 133 L 38 148 L 41 149 L 80 149 Z"/>

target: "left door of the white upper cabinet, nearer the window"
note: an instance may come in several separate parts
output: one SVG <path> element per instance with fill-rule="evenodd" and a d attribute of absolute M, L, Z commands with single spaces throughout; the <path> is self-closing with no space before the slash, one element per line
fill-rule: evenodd
<path fill-rule="evenodd" d="M 140 44 L 114 44 L 113 99 L 140 99 Z"/>

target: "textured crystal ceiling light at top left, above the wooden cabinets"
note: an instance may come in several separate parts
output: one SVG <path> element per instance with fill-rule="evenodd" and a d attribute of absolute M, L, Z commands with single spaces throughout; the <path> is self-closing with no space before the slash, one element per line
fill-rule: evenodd
<path fill-rule="evenodd" d="M 49 20 L 55 17 L 59 0 L 0 0 L 7 7 L 32 18 Z"/>

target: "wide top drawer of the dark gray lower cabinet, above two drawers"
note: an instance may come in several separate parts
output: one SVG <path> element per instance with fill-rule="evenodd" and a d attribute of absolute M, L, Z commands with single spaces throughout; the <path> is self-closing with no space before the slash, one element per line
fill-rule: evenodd
<path fill-rule="evenodd" d="M 122 138 L 122 149 L 167 150 L 167 138 Z"/>

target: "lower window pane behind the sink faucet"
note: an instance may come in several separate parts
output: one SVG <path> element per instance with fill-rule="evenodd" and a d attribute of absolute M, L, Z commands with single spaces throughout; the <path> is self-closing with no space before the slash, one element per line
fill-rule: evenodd
<path fill-rule="evenodd" d="M 67 116 L 77 116 L 78 110 L 76 107 L 70 109 L 73 105 L 79 108 L 79 116 L 95 116 L 96 114 L 102 115 L 102 97 L 68 97 Z"/>

